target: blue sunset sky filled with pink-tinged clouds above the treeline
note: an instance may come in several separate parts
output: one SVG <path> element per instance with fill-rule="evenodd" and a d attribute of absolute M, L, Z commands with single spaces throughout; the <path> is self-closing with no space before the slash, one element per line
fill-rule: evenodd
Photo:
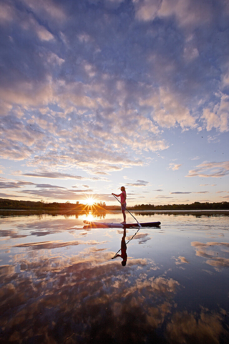
<path fill-rule="evenodd" d="M 0 198 L 229 201 L 227 0 L 0 7 Z"/>

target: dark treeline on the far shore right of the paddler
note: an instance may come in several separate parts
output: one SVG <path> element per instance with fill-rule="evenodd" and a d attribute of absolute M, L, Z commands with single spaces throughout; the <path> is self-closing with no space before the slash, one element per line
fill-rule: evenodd
<path fill-rule="evenodd" d="M 153 204 L 135 204 L 133 207 L 128 207 L 130 210 L 225 210 L 229 209 L 229 202 L 194 202 L 191 204 L 166 204 L 166 205 L 153 205 Z"/>

